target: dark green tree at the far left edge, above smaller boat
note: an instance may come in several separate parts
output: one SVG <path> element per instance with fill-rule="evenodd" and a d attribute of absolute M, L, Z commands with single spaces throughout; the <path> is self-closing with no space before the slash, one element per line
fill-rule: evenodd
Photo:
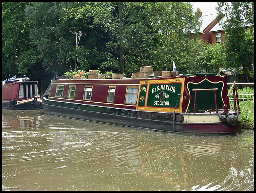
<path fill-rule="evenodd" d="M 30 24 L 26 22 L 24 8 L 30 2 L 2 2 L 2 76 L 22 76 L 20 55 L 31 48 Z M 24 71 L 20 71 L 24 70 Z"/>

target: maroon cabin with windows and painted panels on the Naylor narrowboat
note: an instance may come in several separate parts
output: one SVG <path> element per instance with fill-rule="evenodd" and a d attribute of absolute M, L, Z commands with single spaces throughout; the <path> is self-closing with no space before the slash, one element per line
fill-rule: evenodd
<path fill-rule="evenodd" d="M 142 111 L 202 113 L 221 109 L 226 76 L 197 74 L 171 78 L 52 80 L 48 99 Z M 228 103 L 229 107 L 229 103 Z"/>

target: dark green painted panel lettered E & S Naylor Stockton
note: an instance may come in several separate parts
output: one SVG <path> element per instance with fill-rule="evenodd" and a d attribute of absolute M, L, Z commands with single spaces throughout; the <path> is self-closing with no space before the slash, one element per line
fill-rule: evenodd
<path fill-rule="evenodd" d="M 180 96 L 182 89 L 182 82 L 180 83 L 165 83 L 165 84 L 150 84 L 148 92 L 147 107 L 169 107 L 175 108 L 178 100 L 180 103 Z"/>

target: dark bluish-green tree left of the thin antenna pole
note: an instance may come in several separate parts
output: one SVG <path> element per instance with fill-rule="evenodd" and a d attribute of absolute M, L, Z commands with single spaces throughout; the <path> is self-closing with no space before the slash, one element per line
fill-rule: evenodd
<path fill-rule="evenodd" d="M 64 8 L 69 5 L 68 2 L 34 2 L 24 10 L 27 21 L 33 26 L 30 44 L 36 48 L 37 60 L 47 73 L 66 70 L 69 52 L 75 49 L 68 22 L 64 20 Z"/>

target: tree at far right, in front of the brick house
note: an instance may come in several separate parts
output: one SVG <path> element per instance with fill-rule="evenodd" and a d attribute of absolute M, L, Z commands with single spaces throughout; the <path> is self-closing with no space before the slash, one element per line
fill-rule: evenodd
<path fill-rule="evenodd" d="M 217 9 L 225 14 L 226 68 L 242 68 L 247 81 L 253 81 L 254 2 L 218 2 Z"/>

